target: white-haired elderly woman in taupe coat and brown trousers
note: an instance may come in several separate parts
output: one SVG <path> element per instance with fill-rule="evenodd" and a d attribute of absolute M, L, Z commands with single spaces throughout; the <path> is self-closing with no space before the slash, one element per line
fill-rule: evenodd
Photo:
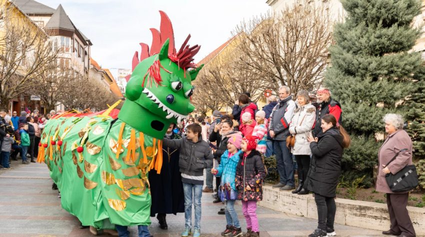
<path fill-rule="evenodd" d="M 401 115 L 386 114 L 383 117 L 383 121 L 385 122 L 385 132 L 388 136 L 378 152 L 379 166 L 376 191 L 386 193 L 386 205 L 388 206 L 391 226 L 388 231 L 384 231 L 382 234 L 414 237 L 416 234 L 406 209 L 408 192 L 393 193 L 385 180 L 386 174 L 396 174 L 406 165 L 412 164 L 412 142 L 408 134 L 403 130 L 403 119 Z M 400 152 L 396 159 L 385 167 L 385 164 L 401 149 L 407 149 L 407 151 Z"/>

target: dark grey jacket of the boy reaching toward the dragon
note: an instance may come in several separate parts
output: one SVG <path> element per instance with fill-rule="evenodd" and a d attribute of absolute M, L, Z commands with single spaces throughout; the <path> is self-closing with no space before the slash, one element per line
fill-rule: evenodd
<path fill-rule="evenodd" d="M 211 148 L 207 142 L 199 137 L 196 143 L 187 137 L 180 139 L 163 139 L 163 144 L 171 149 L 180 149 L 178 166 L 181 172 L 181 181 L 188 184 L 203 185 L 203 169 L 212 167 Z"/>

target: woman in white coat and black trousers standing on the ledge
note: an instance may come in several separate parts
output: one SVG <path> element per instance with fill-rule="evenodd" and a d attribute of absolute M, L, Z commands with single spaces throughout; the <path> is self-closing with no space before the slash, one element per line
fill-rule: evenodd
<path fill-rule="evenodd" d="M 316 108 L 311 105 L 310 97 L 306 90 L 300 90 L 296 94 L 296 100 L 298 108 L 295 109 L 289 125 L 290 134 L 295 136 L 295 144 L 291 152 L 295 155 L 296 165 L 298 166 L 298 187 L 292 193 L 308 194 L 308 191 L 302 186 L 310 167 L 311 150 L 307 137 L 314 125 Z"/>

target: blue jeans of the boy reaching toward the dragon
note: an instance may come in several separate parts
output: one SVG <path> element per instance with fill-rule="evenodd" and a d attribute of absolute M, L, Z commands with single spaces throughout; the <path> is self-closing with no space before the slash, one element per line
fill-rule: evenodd
<path fill-rule="evenodd" d="M 184 192 L 184 228 L 192 228 L 192 203 L 195 208 L 195 224 L 193 229 L 200 230 L 202 185 L 183 183 Z"/>

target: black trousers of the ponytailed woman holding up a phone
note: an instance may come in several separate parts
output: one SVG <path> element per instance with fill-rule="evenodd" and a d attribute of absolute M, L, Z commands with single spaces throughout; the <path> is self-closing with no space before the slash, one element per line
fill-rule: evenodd
<path fill-rule="evenodd" d="M 333 229 L 336 213 L 335 199 L 314 194 L 314 201 L 316 201 L 317 206 L 317 228 L 322 230 L 326 230 L 326 227 Z"/>

